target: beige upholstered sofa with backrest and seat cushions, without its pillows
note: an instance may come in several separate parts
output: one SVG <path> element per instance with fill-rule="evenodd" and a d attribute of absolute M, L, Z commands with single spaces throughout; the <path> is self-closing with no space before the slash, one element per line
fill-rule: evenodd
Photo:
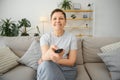
<path fill-rule="evenodd" d="M 31 36 L 0 36 L 0 44 L 6 44 L 19 59 L 25 55 L 34 40 L 37 40 L 36 37 Z M 111 80 L 108 68 L 97 54 L 101 53 L 101 47 L 118 41 L 120 41 L 120 38 L 113 37 L 77 38 L 78 54 L 76 64 L 78 75 L 76 80 Z M 4 80 L 35 80 L 36 70 L 18 62 L 16 66 L 1 73 L 0 76 Z"/>

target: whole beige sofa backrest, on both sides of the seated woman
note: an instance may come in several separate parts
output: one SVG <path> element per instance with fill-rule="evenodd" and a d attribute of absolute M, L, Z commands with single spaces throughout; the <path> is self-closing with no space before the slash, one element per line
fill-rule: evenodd
<path fill-rule="evenodd" d="M 35 37 L 2 37 L 0 36 L 0 44 L 4 43 L 10 49 L 15 52 L 19 57 L 30 47 Z M 97 53 L 101 53 L 100 48 L 120 41 L 120 38 L 104 38 L 104 37 L 92 37 L 92 38 L 77 38 L 77 64 L 83 64 L 84 62 L 102 62 Z"/>

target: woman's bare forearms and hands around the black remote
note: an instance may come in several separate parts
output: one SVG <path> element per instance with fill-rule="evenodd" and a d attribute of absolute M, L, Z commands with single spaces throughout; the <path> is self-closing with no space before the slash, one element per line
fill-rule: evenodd
<path fill-rule="evenodd" d="M 76 50 L 71 50 L 68 58 L 63 59 L 62 55 L 64 54 L 64 51 L 61 52 L 60 54 L 56 54 L 52 48 L 56 48 L 55 46 L 51 46 L 50 48 L 47 45 L 44 45 L 41 47 L 42 51 L 42 60 L 52 60 L 53 62 L 56 62 L 60 65 L 65 65 L 65 66 L 74 66 L 76 62 L 76 55 L 77 51 Z M 38 61 L 38 63 L 41 63 L 41 60 Z"/>

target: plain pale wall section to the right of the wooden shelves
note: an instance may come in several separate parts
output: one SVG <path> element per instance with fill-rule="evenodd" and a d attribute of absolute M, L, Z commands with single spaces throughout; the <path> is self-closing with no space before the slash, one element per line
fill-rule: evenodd
<path fill-rule="evenodd" d="M 95 36 L 120 37 L 120 0 L 95 0 Z"/>

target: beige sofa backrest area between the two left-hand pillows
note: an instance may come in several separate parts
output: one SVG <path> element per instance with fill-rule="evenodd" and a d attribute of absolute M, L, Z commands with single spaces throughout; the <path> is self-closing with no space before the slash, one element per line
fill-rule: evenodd
<path fill-rule="evenodd" d="M 0 36 L 0 44 L 8 46 L 17 56 L 21 57 L 29 48 L 33 37 L 20 36 L 20 37 L 3 37 Z"/>

